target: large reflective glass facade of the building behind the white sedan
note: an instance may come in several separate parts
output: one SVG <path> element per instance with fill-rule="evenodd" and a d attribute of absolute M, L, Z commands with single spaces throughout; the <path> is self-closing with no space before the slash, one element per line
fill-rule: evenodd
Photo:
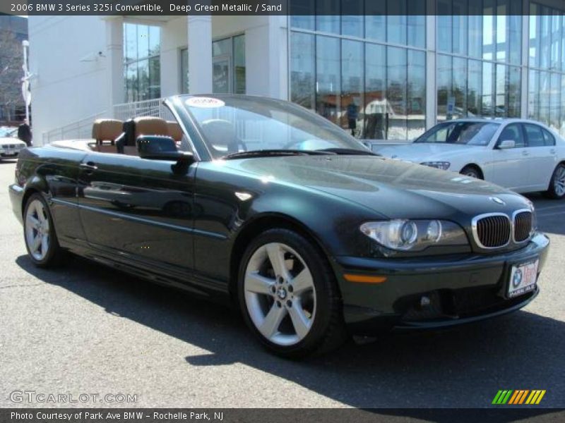
<path fill-rule="evenodd" d="M 355 137 L 411 139 L 473 116 L 529 117 L 565 135 L 564 11 L 514 0 L 436 0 L 441 16 L 425 16 L 420 0 L 296 4 L 336 14 L 290 17 L 290 99 Z"/>

